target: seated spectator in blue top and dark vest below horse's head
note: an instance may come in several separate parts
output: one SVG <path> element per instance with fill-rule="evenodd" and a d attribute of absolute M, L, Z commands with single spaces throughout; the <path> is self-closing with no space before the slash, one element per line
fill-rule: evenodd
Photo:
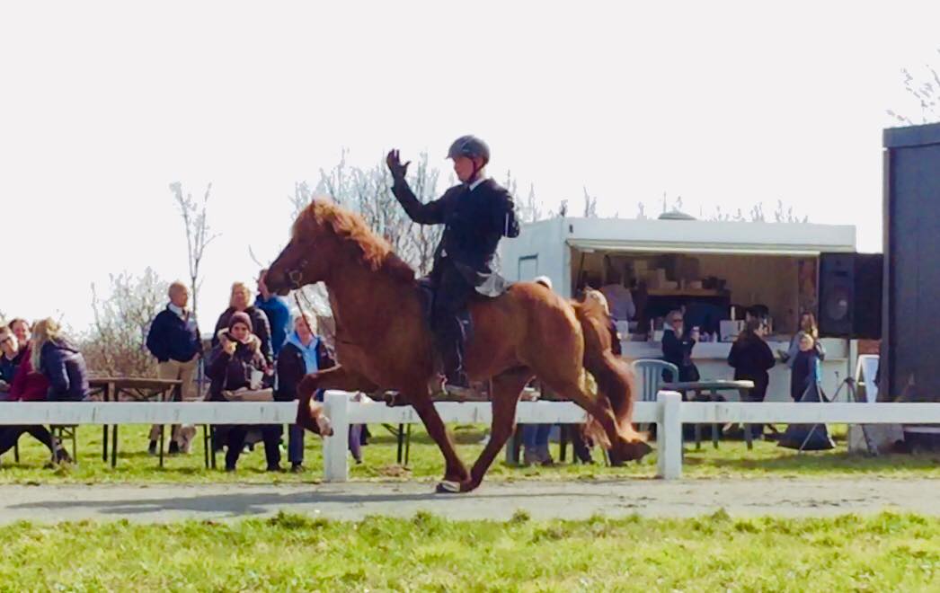
<path fill-rule="evenodd" d="M 277 391 L 274 398 L 278 401 L 293 401 L 297 398 L 297 385 L 308 373 L 333 367 L 321 336 L 315 336 L 303 315 L 294 320 L 294 331 L 287 338 L 287 343 L 277 355 Z M 352 430 L 350 439 L 352 440 Z M 290 471 L 304 471 L 304 429 L 291 424 L 288 429 L 288 460 Z"/>

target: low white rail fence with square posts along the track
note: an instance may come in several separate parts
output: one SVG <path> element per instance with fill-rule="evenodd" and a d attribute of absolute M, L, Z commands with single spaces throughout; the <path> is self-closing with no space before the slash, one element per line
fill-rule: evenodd
<path fill-rule="evenodd" d="M 335 434 L 323 441 L 323 477 L 349 477 L 347 442 L 351 424 L 419 424 L 411 407 L 356 402 L 345 392 L 328 391 L 325 413 Z M 436 404 L 446 423 L 489 424 L 486 402 Z M 290 424 L 296 402 L 18 402 L 0 403 L 0 425 L 62 424 Z M 585 412 L 571 402 L 520 402 L 517 422 L 580 424 Z M 663 391 L 657 401 L 637 402 L 634 420 L 657 424 L 658 475 L 682 476 L 682 424 L 940 424 L 940 403 L 752 403 L 683 402 L 676 392 Z"/>

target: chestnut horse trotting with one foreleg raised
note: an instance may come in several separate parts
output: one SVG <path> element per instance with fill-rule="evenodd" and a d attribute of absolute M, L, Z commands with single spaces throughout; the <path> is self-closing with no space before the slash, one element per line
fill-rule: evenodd
<path fill-rule="evenodd" d="M 431 387 L 436 376 L 431 331 L 414 270 L 358 214 L 316 200 L 293 225 L 287 247 L 265 278 L 269 289 L 323 282 L 337 325 L 339 365 L 311 373 L 298 386 L 297 423 L 319 432 L 318 389 L 367 393 L 397 390 L 415 408 L 446 462 L 439 492 L 476 489 L 514 428 L 516 403 L 534 377 L 570 398 L 599 423 L 613 463 L 642 458 L 649 445 L 631 425 L 629 367 L 610 351 L 605 321 L 539 284 L 518 283 L 495 298 L 470 303 L 473 336 L 464 367 L 472 381 L 490 381 L 493 429 L 468 473 L 457 456 Z M 597 383 L 587 389 L 585 369 Z"/>

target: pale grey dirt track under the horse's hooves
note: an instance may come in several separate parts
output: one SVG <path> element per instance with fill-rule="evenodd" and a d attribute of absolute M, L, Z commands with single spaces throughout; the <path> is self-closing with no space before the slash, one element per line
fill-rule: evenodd
<path fill-rule="evenodd" d="M 433 494 L 432 486 L 430 482 L 0 486 L 0 523 L 217 520 L 279 510 L 349 520 L 374 514 L 410 517 L 419 509 L 450 519 L 497 520 L 509 519 L 517 509 L 536 519 L 633 513 L 688 517 L 719 508 L 740 516 L 822 517 L 884 509 L 940 515 L 940 479 L 490 482 L 469 495 Z"/>

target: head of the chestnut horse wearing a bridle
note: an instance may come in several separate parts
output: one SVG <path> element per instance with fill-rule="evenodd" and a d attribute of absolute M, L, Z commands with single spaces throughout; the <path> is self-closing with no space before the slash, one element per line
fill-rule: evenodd
<path fill-rule="evenodd" d="M 283 296 L 325 280 L 334 263 L 336 243 L 336 234 L 318 215 L 316 202 L 311 204 L 297 217 L 290 242 L 268 268 L 268 289 Z"/>

